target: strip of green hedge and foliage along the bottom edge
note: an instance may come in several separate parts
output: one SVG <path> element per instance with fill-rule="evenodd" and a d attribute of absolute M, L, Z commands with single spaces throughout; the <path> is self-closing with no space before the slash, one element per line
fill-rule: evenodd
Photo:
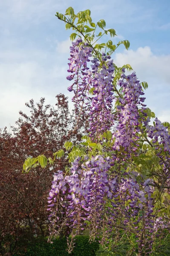
<path fill-rule="evenodd" d="M 150 256 L 170 256 L 170 234 L 166 230 L 163 233 L 164 237 L 155 238 L 153 253 L 150 253 Z M 133 234 L 130 237 L 124 234 L 122 240 L 110 241 L 109 248 L 102 247 L 98 241 L 89 243 L 89 236 L 76 236 L 75 247 L 70 254 L 67 252 L 66 238 L 58 238 L 53 244 L 43 237 L 32 241 L 29 239 L 27 248 L 24 247 L 26 240 L 24 244 L 23 242 L 18 241 L 20 250 L 12 256 L 138 256 L 138 244 Z"/>

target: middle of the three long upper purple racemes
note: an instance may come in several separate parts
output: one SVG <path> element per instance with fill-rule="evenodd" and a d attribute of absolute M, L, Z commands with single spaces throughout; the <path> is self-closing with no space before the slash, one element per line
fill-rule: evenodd
<path fill-rule="evenodd" d="M 92 86 L 94 88 L 92 97 L 92 105 L 89 111 L 90 136 L 98 137 L 99 134 L 109 130 L 114 124 L 114 115 L 112 113 L 112 101 L 115 99 L 113 95 L 113 72 L 115 70 L 113 60 L 107 61 L 111 57 L 102 54 L 102 67 L 99 68 L 97 58 L 92 60 Z"/>

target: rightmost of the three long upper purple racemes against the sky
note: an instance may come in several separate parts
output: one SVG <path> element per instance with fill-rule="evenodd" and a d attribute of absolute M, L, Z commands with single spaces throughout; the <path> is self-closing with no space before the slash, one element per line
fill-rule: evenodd
<path fill-rule="evenodd" d="M 138 146 L 137 140 L 139 139 L 139 132 L 141 131 L 140 124 L 147 125 L 144 116 L 145 106 L 143 104 L 144 92 L 136 78 L 135 72 L 126 76 L 125 70 L 122 70 L 121 79 L 118 85 L 121 87 L 122 97 L 118 98 L 118 126 L 117 131 L 113 134 L 115 143 L 113 149 L 120 150 L 124 148 L 126 151 L 135 151 Z M 139 110 L 139 106 L 141 106 Z M 148 120 L 149 121 L 149 120 Z"/>

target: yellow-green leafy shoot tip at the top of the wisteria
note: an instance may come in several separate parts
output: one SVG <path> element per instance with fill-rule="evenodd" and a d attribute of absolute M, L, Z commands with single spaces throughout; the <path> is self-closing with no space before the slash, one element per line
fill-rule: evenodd
<path fill-rule="evenodd" d="M 66 23 L 66 29 L 72 28 L 75 31 L 70 35 L 71 41 L 74 41 L 76 37 L 83 37 L 84 41 L 93 47 L 95 53 L 98 53 L 102 49 L 107 55 L 111 55 L 120 44 L 124 44 L 124 47 L 129 49 L 130 42 L 128 40 L 119 41 L 117 45 L 113 44 L 111 40 L 107 41 L 107 43 L 96 44 L 103 35 L 109 35 L 111 38 L 117 35 L 115 29 L 106 29 L 105 20 L 101 19 L 97 23 L 94 23 L 90 15 L 90 10 L 75 14 L 72 7 L 66 9 L 65 15 L 59 12 L 56 13 L 58 19 Z M 100 58 L 100 56 L 97 57 Z"/>

